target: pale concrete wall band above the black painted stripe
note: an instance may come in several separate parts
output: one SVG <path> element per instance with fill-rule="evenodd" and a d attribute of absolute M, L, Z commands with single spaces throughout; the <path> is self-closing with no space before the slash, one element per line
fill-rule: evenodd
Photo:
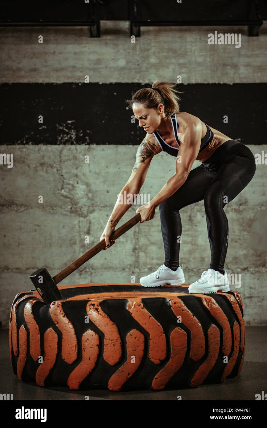
<path fill-rule="evenodd" d="M 240 33 L 241 47 L 208 45 L 215 31 Z M 266 82 L 266 33 L 267 21 L 259 37 L 246 26 L 142 27 L 131 43 L 128 21 L 103 21 L 99 39 L 85 27 L 0 28 L 0 82 Z"/>

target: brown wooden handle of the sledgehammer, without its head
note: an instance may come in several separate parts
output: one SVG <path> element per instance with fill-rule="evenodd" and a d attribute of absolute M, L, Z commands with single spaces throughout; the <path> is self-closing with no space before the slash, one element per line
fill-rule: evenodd
<path fill-rule="evenodd" d="M 110 236 L 110 240 L 115 240 L 119 238 L 119 236 L 123 235 L 123 233 L 127 232 L 127 230 L 131 229 L 132 226 L 135 226 L 136 223 L 141 221 L 141 214 L 138 213 L 135 217 L 132 217 L 129 221 L 120 226 L 117 230 L 115 230 Z M 95 256 L 99 251 L 103 250 L 106 247 L 105 239 L 102 239 L 98 244 L 96 244 L 91 250 L 88 250 L 84 253 L 83 256 L 79 257 L 77 260 L 72 262 L 69 266 L 61 270 L 57 275 L 53 276 L 53 280 L 55 284 L 58 284 L 62 279 L 66 278 L 70 273 L 74 272 L 81 265 L 83 265 L 87 260 L 91 259 Z"/>

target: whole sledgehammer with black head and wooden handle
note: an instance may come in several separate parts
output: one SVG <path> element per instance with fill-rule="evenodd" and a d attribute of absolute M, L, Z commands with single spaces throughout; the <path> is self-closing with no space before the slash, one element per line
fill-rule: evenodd
<path fill-rule="evenodd" d="M 136 223 L 141 221 L 141 214 L 138 213 L 135 217 L 132 217 L 129 221 L 120 226 L 117 230 L 115 230 L 110 236 L 110 240 L 115 240 L 119 238 L 119 236 L 123 235 L 123 233 L 127 232 L 127 230 L 131 229 Z M 70 275 L 70 273 L 74 272 L 81 265 L 83 265 L 87 260 L 91 259 L 95 256 L 99 251 L 103 250 L 106 247 L 105 239 L 102 239 L 98 244 L 96 244 L 91 250 L 88 250 L 84 253 L 83 256 L 79 257 L 77 260 L 72 262 L 65 269 L 61 270 L 57 275 L 51 277 L 48 270 L 45 268 L 41 268 L 36 270 L 30 275 L 30 279 L 33 282 L 36 290 L 42 297 L 45 303 L 51 303 L 54 300 L 62 299 L 62 295 L 57 288 L 57 284 L 62 281 L 62 279 L 66 278 L 66 276 Z"/>

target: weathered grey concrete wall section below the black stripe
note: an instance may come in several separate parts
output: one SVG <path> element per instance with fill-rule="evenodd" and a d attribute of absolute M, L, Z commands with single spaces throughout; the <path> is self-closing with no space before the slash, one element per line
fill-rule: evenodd
<path fill-rule="evenodd" d="M 249 146 L 252 152 L 267 146 Z M 117 194 L 135 162 L 133 146 L 1 146 L 14 153 L 13 168 L 1 168 L 1 314 L 7 326 L 16 293 L 33 288 L 29 275 L 45 266 L 55 275 L 99 242 Z M 105 151 L 105 153 L 104 153 Z M 90 163 L 84 163 L 89 155 Z M 118 165 L 118 158 L 121 159 Z M 195 161 L 193 167 L 200 162 Z M 174 159 L 153 158 L 142 193 L 150 199 L 174 174 Z M 264 325 L 266 297 L 266 165 L 258 165 L 248 186 L 228 205 L 229 243 L 225 269 L 241 274 L 240 292 L 247 325 Z M 43 203 L 38 203 L 38 196 Z M 135 215 L 132 205 L 118 226 Z M 183 234 L 180 263 L 186 283 L 198 279 L 210 264 L 204 202 L 180 211 Z M 84 243 L 89 235 L 89 244 Z M 159 208 L 152 220 L 138 223 L 114 246 L 102 251 L 62 281 L 64 284 L 139 282 L 164 263 Z"/>

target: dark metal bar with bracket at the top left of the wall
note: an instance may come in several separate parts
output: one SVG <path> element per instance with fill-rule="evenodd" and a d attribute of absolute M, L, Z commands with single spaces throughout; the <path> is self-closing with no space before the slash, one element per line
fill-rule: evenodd
<path fill-rule="evenodd" d="M 86 21 L 36 21 L 13 22 L 0 21 L 0 27 L 90 27 L 90 37 L 100 37 L 100 5 L 98 0 L 91 0 Z"/>

